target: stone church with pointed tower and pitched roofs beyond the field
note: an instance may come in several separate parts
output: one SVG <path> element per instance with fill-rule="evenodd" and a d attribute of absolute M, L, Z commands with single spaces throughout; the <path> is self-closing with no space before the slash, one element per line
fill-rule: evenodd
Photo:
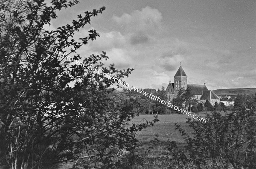
<path fill-rule="evenodd" d="M 206 100 L 209 100 L 209 102 L 214 105 L 216 101 L 217 103 L 220 102 L 220 98 L 215 95 L 214 92 L 208 90 L 205 83 L 203 85 L 187 84 L 187 75 L 180 63 L 180 68 L 177 70 L 174 76 L 174 83 L 171 83 L 170 80 L 166 88 L 166 95 L 168 97 L 168 100 L 172 101 L 173 98 L 177 97 L 177 94 L 181 88 L 186 89 L 188 87 L 192 90 L 194 98 L 198 100 L 198 103 L 204 103 L 206 102 Z"/>

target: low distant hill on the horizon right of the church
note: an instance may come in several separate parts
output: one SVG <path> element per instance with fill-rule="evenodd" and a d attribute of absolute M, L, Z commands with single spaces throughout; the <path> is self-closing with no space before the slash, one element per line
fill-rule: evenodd
<path fill-rule="evenodd" d="M 255 95 L 256 88 L 217 89 L 217 90 L 213 90 L 213 92 L 216 95 L 217 94 L 222 94 L 222 93 L 235 93 L 235 94 Z"/>

